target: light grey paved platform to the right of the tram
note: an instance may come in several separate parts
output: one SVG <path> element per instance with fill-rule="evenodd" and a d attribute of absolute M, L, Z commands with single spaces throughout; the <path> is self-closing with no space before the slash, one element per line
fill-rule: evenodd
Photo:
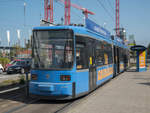
<path fill-rule="evenodd" d="M 150 113 L 150 70 L 129 69 L 65 113 Z"/>

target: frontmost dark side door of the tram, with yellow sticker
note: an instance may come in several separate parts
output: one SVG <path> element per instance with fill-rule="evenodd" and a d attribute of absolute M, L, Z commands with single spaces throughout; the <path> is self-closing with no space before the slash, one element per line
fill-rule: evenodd
<path fill-rule="evenodd" d="M 95 53 L 95 44 L 94 41 L 93 43 L 90 43 L 89 46 L 89 90 L 92 91 L 93 89 L 96 88 L 96 81 L 97 81 L 97 76 L 96 76 L 96 53 Z"/>

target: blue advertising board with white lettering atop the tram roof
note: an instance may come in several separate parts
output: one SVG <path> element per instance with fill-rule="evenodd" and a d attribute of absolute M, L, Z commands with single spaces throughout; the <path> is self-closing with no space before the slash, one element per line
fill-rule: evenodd
<path fill-rule="evenodd" d="M 108 30 L 106 30 L 105 28 L 101 27 L 100 25 L 96 24 L 95 22 L 93 22 L 88 18 L 85 19 L 85 25 L 86 28 L 91 31 L 94 31 L 101 35 L 110 36 L 110 32 Z"/>

